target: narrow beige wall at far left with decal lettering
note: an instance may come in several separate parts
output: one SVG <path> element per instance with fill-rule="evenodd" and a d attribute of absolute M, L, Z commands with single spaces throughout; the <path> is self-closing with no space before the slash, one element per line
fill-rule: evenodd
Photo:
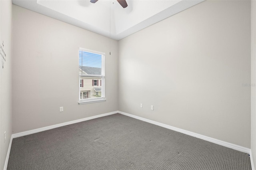
<path fill-rule="evenodd" d="M 12 135 L 12 1 L 1 0 L 0 6 L 0 43 L 6 54 L 4 68 L 0 56 L 0 169 L 3 170 Z M 4 142 L 4 131 L 6 131 L 6 142 Z"/>

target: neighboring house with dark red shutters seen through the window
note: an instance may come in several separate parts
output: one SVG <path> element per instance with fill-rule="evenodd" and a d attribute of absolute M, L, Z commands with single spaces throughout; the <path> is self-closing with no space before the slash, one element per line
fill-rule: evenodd
<path fill-rule="evenodd" d="M 101 77 L 88 77 L 86 75 L 101 75 L 101 68 L 79 66 L 80 99 L 101 97 Z"/>

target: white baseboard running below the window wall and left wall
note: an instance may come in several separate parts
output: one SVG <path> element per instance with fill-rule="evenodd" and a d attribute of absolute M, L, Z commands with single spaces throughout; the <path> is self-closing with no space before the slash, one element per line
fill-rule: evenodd
<path fill-rule="evenodd" d="M 57 124 L 57 125 L 52 125 L 52 126 L 48 126 L 48 127 L 42 127 L 42 128 L 37 128 L 37 129 L 34 129 L 34 130 L 28 130 L 28 131 L 25 131 L 25 132 L 20 132 L 20 133 L 12 134 L 11 139 L 10 139 L 9 148 L 8 148 L 8 151 L 7 151 L 7 155 L 6 155 L 6 160 L 5 160 L 5 163 L 4 163 L 4 170 L 6 170 L 7 165 L 8 165 L 8 160 L 9 160 L 9 155 L 10 155 L 10 150 L 11 150 L 12 139 L 13 138 L 18 138 L 20 136 L 25 136 L 25 135 L 28 135 L 28 134 L 42 132 L 42 131 L 50 130 L 50 129 L 53 129 L 53 128 L 63 127 L 63 126 L 71 125 L 71 124 L 74 124 L 74 123 L 88 121 L 88 120 L 96 119 L 96 118 L 99 118 L 99 117 L 113 115 L 113 114 L 116 114 L 116 113 L 118 113 L 118 112 L 114 111 L 114 112 L 110 112 L 110 113 L 104 113 L 104 114 L 101 114 L 101 115 L 96 115 L 96 116 L 92 116 L 92 117 L 86 117 L 86 118 L 83 118 L 83 119 L 78 119 L 78 120 L 74 120 L 74 121 L 70 121 L 70 122 L 60 123 L 60 124 Z"/>

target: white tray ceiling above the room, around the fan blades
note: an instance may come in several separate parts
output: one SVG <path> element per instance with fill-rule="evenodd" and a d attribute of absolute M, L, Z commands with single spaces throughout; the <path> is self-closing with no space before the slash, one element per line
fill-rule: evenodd
<path fill-rule="evenodd" d="M 204 0 L 12 0 L 13 4 L 121 40 Z"/>

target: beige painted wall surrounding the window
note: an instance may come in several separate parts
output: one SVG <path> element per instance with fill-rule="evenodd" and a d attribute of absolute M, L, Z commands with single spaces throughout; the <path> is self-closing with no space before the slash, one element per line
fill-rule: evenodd
<path fill-rule="evenodd" d="M 118 42 L 13 5 L 13 131 L 118 110 Z M 105 57 L 106 102 L 78 105 L 79 47 Z M 59 112 L 59 107 L 64 112 Z"/>

